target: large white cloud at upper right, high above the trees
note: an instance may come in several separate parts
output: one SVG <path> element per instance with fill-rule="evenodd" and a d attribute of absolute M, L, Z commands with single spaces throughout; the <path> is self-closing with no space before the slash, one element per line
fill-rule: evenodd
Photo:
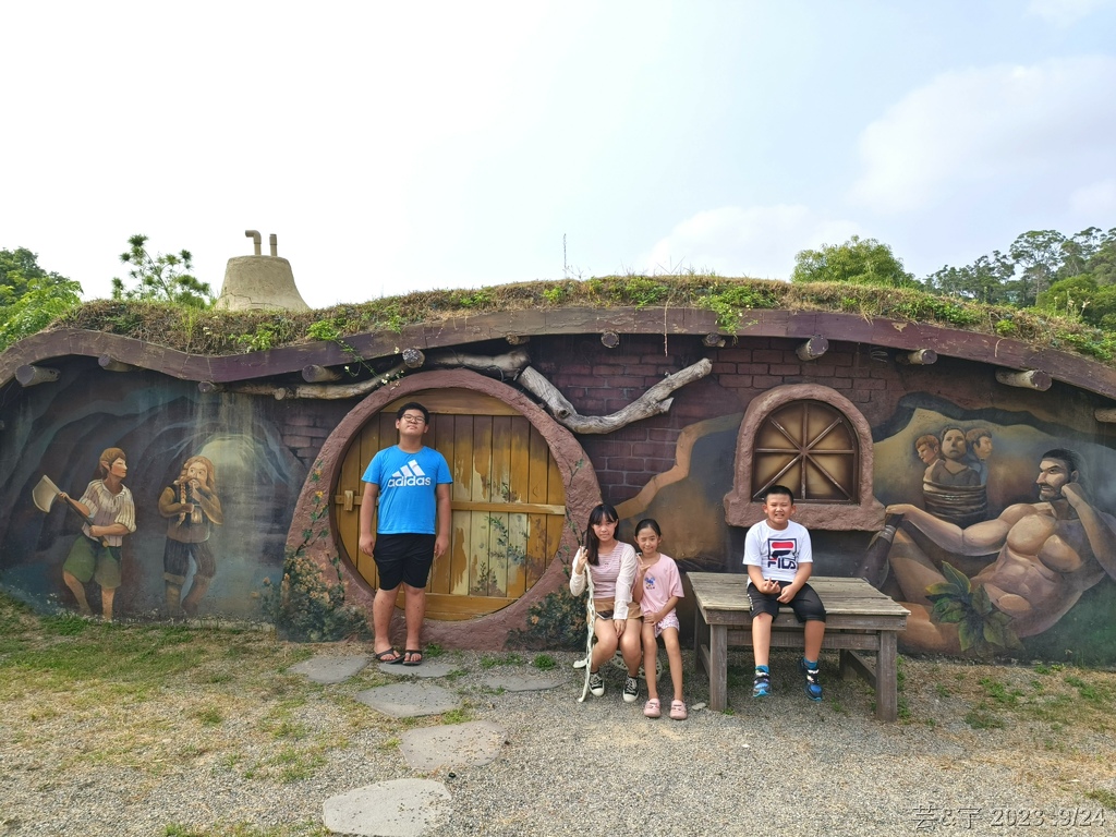
<path fill-rule="evenodd" d="M 939 76 L 865 128 L 850 199 L 910 211 L 1023 184 L 1064 204 L 1116 158 L 1113 89 L 1107 56 Z"/>

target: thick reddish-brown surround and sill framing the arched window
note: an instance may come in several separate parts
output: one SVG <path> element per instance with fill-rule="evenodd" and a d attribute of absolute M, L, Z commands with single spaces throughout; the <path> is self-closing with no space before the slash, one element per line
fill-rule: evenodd
<path fill-rule="evenodd" d="M 836 389 L 820 384 L 777 386 L 752 398 L 737 435 L 737 461 L 732 491 L 724 497 L 724 519 L 731 526 L 749 527 L 763 519 L 763 504 L 752 501 L 752 449 L 756 434 L 771 413 L 798 401 L 819 401 L 839 411 L 849 422 L 858 445 L 857 498 L 855 503 L 799 503 L 795 519 L 807 529 L 878 531 L 884 507 L 873 494 L 872 426 L 856 405 Z"/>

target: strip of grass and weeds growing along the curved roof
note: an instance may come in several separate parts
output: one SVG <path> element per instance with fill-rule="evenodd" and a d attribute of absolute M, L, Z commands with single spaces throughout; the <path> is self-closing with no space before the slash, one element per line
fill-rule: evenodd
<path fill-rule="evenodd" d="M 1047 311 L 989 306 L 912 288 L 840 282 L 787 283 L 696 272 L 415 291 L 306 312 L 215 308 L 199 311 L 163 302 L 94 300 L 66 310 L 52 327 L 119 334 L 182 352 L 221 355 L 308 340 L 345 345 L 344 339 L 353 335 L 400 334 L 408 326 L 439 323 L 446 317 L 565 306 L 708 309 L 716 317 L 718 327 L 728 334 L 753 321 L 756 318 L 749 312 L 754 310 L 844 311 L 998 334 L 1036 346 L 1077 352 L 1108 365 L 1113 365 L 1116 357 L 1116 335 L 1112 331 Z M 354 358 L 355 362 L 360 359 L 372 360 Z"/>

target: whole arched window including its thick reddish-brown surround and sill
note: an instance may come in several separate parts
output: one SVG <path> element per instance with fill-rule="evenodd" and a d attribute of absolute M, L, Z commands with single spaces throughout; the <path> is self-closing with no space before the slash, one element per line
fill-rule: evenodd
<path fill-rule="evenodd" d="M 753 398 L 740 423 L 725 520 L 762 520 L 763 492 L 782 484 L 808 529 L 878 531 L 884 507 L 872 494 L 872 429 L 848 398 L 820 384 L 776 387 Z"/>

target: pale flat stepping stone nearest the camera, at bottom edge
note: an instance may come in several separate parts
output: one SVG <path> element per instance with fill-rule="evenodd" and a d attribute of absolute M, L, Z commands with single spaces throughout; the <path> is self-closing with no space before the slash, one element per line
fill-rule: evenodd
<path fill-rule="evenodd" d="M 450 791 L 430 779 L 393 779 L 366 785 L 323 805 L 330 831 L 364 837 L 421 837 L 450 819 Z"/>

